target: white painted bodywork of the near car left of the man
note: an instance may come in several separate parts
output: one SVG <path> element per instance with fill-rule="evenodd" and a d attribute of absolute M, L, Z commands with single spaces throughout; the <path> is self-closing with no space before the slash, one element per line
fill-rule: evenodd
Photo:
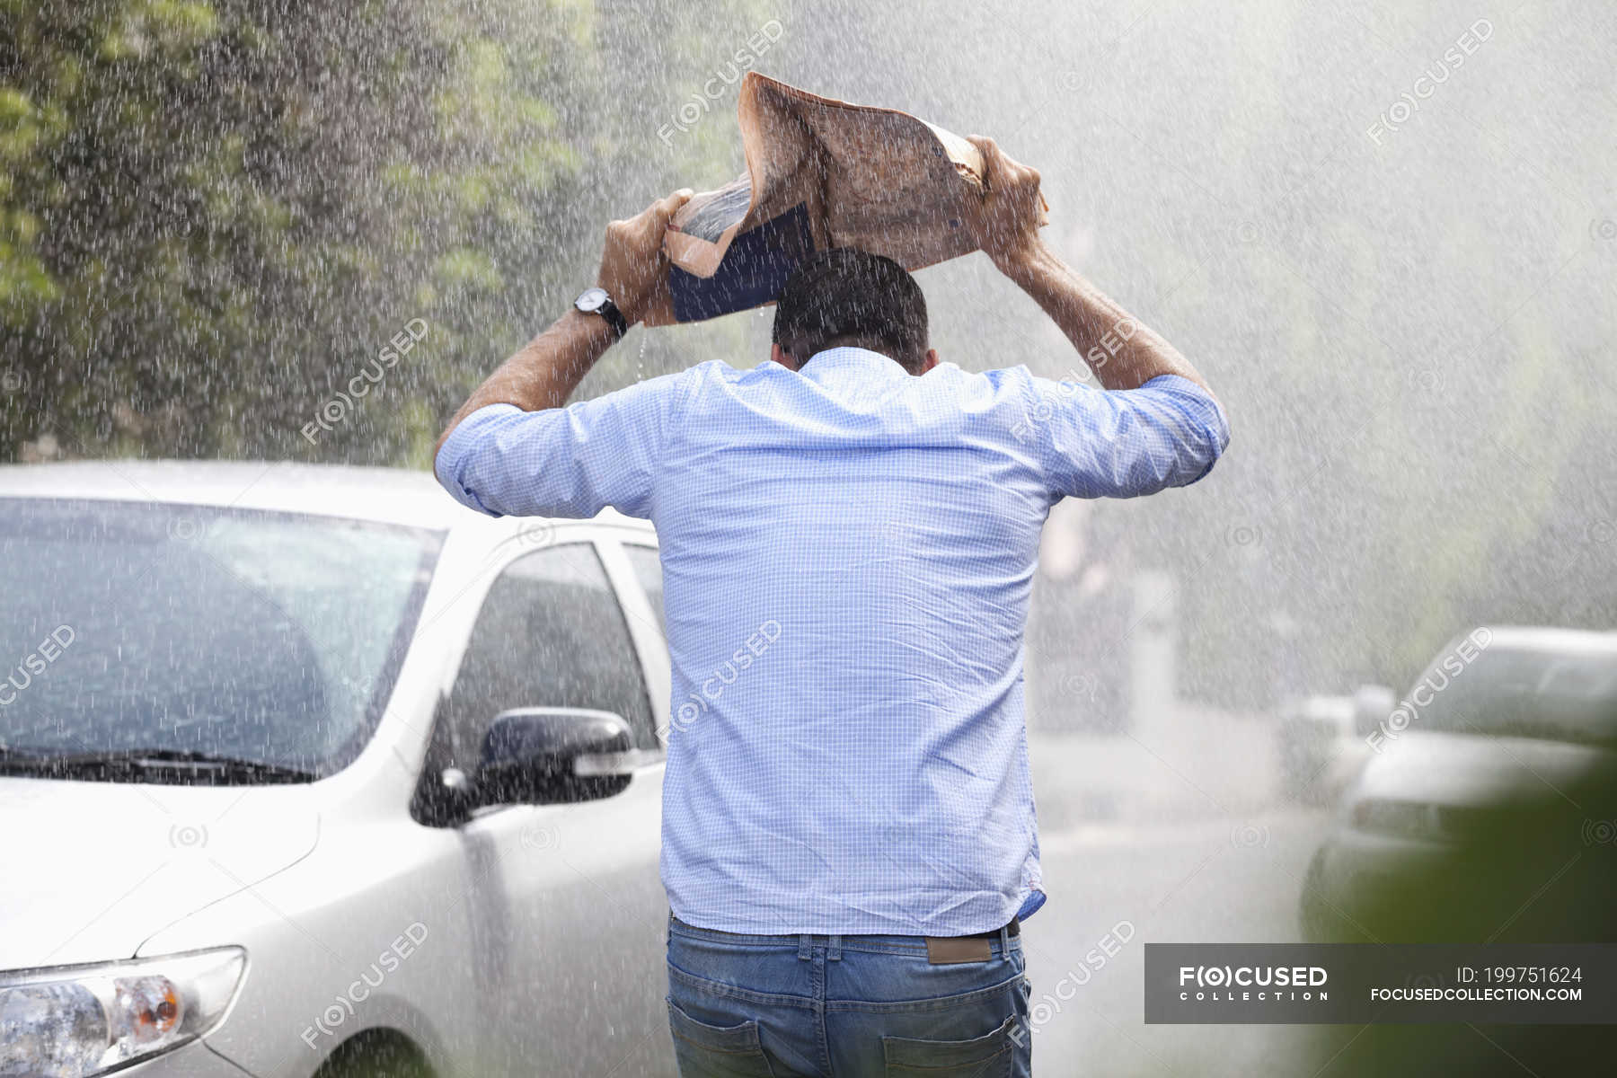
<path fill-rule="evenodd" d="M 456 827 L 411 816 L 435 703 L 483 595 L 538 543 L 595 546 L 632 634 L 621 661 L 640 664 L 666 727 L 668 650 L 623 550 L 655 545 L 647 524 L 493 520 L 424 472 L 293 464 L 5 467 L 0 498 L 445 533 L 386 713 L 336 774 L 222 787 L 0 777 L 0 971 L 244 947 L 223 1021 L 123 1073 L 306 1076 L 362 1030 L 407 1038 L 440 1075 L 671 1073 L 660 753 L 642 753 L 614 797 L 487 808 Z"/>

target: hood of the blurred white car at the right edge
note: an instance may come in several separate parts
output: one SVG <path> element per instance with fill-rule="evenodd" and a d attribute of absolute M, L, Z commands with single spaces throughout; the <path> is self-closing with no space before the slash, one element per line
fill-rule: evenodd
<path fill-rule="evenodd" d="M 1607 750 L 1567 742 L 1405 731 L 1358 774 L 1349 802 L 1496 805 L 1554 797 L 1614 760 Z"/>

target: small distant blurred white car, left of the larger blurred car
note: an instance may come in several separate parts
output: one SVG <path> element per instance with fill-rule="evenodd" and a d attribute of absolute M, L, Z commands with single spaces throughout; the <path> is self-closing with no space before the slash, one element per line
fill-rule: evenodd
<path fill-rule="evenodd" d="M 1386 685 L 1360 685 L 1352 697 L 1302 697 L 1279 710 L 1281 795 L 1331 805 L 1371 756 L 1370 734 L 1392 713 Z"/>

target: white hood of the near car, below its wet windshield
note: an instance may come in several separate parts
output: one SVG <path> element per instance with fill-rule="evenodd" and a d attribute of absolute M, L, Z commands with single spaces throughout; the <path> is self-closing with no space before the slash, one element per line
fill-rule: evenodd
<path fill-rule="evenodd" d="M 307 785 L 0 777 L 0 970 L 134 955 L 152 933 L 307 857 L 320 824 L 310 802 Z"/>

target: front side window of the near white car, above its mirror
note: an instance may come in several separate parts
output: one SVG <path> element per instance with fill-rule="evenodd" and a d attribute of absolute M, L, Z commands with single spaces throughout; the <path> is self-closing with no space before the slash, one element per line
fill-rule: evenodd
<path fill-rule="evenodd" d="M 488 590 L 446 701 L 456 766 L 475 766 L 488 726 L 511 708 L 613 711 L 637 747 L 657 747 L 629 624 L 590 543 L 526 554 Z"/>

